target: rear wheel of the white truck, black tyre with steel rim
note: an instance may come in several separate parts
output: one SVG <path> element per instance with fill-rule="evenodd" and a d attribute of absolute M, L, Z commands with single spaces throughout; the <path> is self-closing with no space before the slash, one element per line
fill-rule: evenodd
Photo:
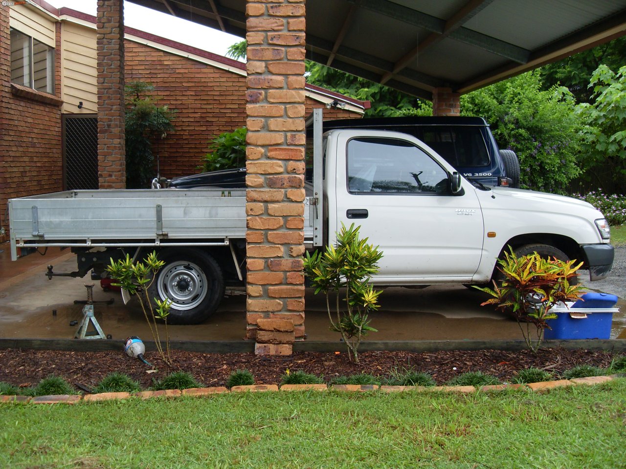
<path fill-rule="evenodd" d="M 193 248 L 167 249 L 165 265 L 148 289 L 150 298 L 172 301 L 168 324 L 198 324 L 212 315 L 224 296 L 222 269 L 212 256 Z"/>

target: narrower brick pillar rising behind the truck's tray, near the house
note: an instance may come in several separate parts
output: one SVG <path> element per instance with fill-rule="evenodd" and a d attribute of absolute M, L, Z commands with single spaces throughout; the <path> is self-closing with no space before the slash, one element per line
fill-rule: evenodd
<path fill-rule="evenodd" d="M 98 181 L 126 188 L 124 136 L 124 4 L 98 0 Z"/>

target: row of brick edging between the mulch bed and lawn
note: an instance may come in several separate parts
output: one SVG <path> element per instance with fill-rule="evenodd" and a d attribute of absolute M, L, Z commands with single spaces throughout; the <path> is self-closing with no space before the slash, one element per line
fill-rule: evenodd
<path fill-rule="evenodd" d="M 449 392 L 449 393 L 477 393 L 493 392 L 503 390 L 526 390 L 545 392 L 553 388 L 567 386 L 592 386 L 617 378 L 623 375 L 611 376 L 590 376 L 588 378 L 573 378 L 572 380 L 541 381 L 540 383 L 529 383 L 523 385 L 506 384 L 481 386 L 379 386 L 379 385 L 251 385 L 233 386 L 229 391 L 223 386 L 211 388 L 191 388 L 185 390 L 168 389 L 163 391 L 140 391 L 136 393 L 99 393 L 81 395 L 53 395 L 53 396 L 5 396 L 0 395 L 0 403 L 33 403 L 33 404 L 76 404 L 80 401 L 109 401 L 124 400 L 130 398 L 153 399 L 153 398 L 176 398 L 179 396 L 204 397 L 213 394 L 246 393 L 246 392 L 277 392 L 277 391 L 338 391 L 338 392 L 408 392 L 408 391 L 428 391 L 428 392 Z"/>

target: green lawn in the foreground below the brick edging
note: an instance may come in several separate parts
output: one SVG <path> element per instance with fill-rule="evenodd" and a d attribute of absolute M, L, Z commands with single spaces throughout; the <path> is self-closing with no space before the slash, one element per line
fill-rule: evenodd
<path fill-rule="evenodd" d="M 232 393 L 1 405 L 0 467 L 617 468 L 626 379 L 548 393 Z"/>

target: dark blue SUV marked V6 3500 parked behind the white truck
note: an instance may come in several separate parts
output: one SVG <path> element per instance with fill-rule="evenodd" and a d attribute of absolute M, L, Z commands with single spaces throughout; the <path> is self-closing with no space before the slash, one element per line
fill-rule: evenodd
<path fill-rule="evenodd" d="M 332 129 L 379 129 L 411 134 L 439 153 L 470 181 L 486 186 L 520 186 L 520 163 L 511 150 L 500 150 L 485 119 L 477 117 L 402 117 L 324 121 Z M 309 168 L 307 178 L 311 178 Z M 245 188 L 245 168 L 182 176 L 170 188 L 214 186 Z"/>

